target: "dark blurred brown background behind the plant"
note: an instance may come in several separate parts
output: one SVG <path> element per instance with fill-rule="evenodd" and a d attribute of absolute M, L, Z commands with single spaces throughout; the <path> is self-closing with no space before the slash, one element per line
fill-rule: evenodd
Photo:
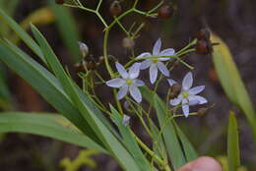
<path fill-rule="evenodd" d="M 83 0 L 82 0 L 83 1 Z M 87 1 L 90 7 L 96 6 L 96 1 Z M 109 23 L 112 21 L 108 12 L 111 0 L 103 0 L 101 12 Z M 158 0 L 142 0 L 139 7 L 142 10 L 152 8 Z M 169 2 L 166 0 L 166 2 Z M 241 77 L 246 85 L 253 103 L 256 103 L 256 75 L 255 75 L 255 44 L 256 44 L 256 1 L 254 0 L 177 0 L 171 1 L 176 6 L 175 15 L 169 20 L 145 19 L 135 15 L 130 15 L 122 22 L 129 27 L 134 21 L 144 22 L 141 36 L 136 39 L 135 54 L 144 51 L 151 51 L 153 43 L 162 38 L 163 47 L 173 47 L 178 50 L 186 45 L 192 35 L 200 28 L 211 28 L 218 33 L 229 46 L 234 61 L 240 71 Z M 122 3 L 123 9 L 129 7 L 131 0 Z M 43 0 L 23 0 L 15 12 L 16 21 L 22 21 L 32 11 L 43 7 L 47 3 Z M 72 10 L 75 15 L 77 25 L 82 34 L 82 41 L 86 42 L 90 48 L 90 53 L 95 57 L 102 54 L 102 26 L 96 21 L 96 17 L 81 10 Z M 74 71 L 69 55 L 64 47 L 54 24 L 40 27 L 40 30 L 49 40 L 55 52 L 64 65 Z M 122 47 L 122 39 L 125 34 L 118 27 L 113 28 L 109 40 L 110 54 L 118 57 L 121 62 L 128 60 L 129 50 Z M 23 45 L 21 45 L 23 46 Z M 26 48 L 25 48 L 26 49 Z M 240 148 L 242 164 L 249 170 L 256 168 L 255 146 L 253 146 L 251 133 L 248 124 L 242 113 L 233 107 L 224 95 L 224 90 L 218 81 L 215 69 L 213 68 L 211 55 L 190 54 L 186 61 L 195 67 L 195 85 L 206 85 L 203 92 L 211 103 L 216 106 L 211 112 L 203 117 L 189 117 L 179 119 L 184 132 L 193 142 L 197 150 L 203 155 L 215 157 L 226 155 L 226 126 L 229 110 L 234 110 L 239 118 Z M 98 69 L 104 75 L 103 65 Z M 179 66 L 171 73 L 171 78 L 181 81 L 188 69 Z M 144 77 L 148 79 L 148 75 Z M 17 75 L 12 72 L 8 74 L 9 85 L 11 87 L 13 102 L 16 110 L 19 111 L 54 111 L 33 89 L 27 85 Z M 164 95 L 167 84 L 161 85 L 159 94 Z M 97 88 L 98 95 L 106 102 L 109 102 L 111 94 L 107 87 Z M 196 110 L 195 108 L 194 110 Z M 136 118 L 132 121 L 134 129 L 142 130 Z M 143 131 L 141 135 L 145 137 Z M 147 141 L 147 137 L 145 137 Z M 57 171 L 63 170 L 59 167 L 61 158 L 77 156 L 79 147 L 64 142 L 53 141 L 46 138 L 8 134 L 0 141 L 0 170 L 3 171 Z M 118 166 L 109 157 L 97 155 L 96 170 L 118 170 Z M 81 170 L 91 170 L 88 167 Z"/>

